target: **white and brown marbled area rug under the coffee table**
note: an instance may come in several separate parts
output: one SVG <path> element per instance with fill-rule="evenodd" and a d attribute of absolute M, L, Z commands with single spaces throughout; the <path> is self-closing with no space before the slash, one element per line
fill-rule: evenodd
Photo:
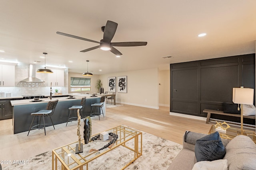
<path fill-rule="evenodd" d="M 89 143 L 90 144 L 90 143 Z M 89 164 L 90 170 L 119 170 L 127 158 L 134 155 L 124 147 L 108 152 Z M 182 145 L 142 132 L 142 156 L 135 160 L 127 170 L 166 170 L 182 149 Z M 86 167 L 84 167 L 86 169 Z M 50 170 L 52 169 L 52 151 L 44 152 L 24 160 L 23 164 L 13 164 L 3 170 Z"/>

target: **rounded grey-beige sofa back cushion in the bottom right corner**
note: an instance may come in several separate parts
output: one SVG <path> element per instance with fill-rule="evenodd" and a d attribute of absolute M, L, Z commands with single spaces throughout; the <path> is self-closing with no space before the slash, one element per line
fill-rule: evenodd
<path fill-rule="evenodd" d="M 228 169 L 256 170 L 256 145 L 250 137 L 238 135 L 226 146 Z"/>

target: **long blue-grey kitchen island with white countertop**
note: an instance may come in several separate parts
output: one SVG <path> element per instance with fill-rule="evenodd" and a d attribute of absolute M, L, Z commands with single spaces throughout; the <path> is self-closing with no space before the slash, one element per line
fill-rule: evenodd
<path fill-rule="evenodd" d="M 91 97 L 89 94 L 77 95 L 74 96 L 73 99 L 68 99 L 67 97 L 55 97 L 52 100 L 58 99 L 58 104 L 52 115 L 52 121 L 54 125 L 65 123 L 68 120 L 69 107 L 74 105 L 80 105 L 81 99 L 86 96 L 86 104 L 83 110 L 83 115 L 88 116 L 91 113 L 91 104 L 99 103 L 100 96 Z M 32 102 L 32 99 L 26 100 L 11 100 L 11 104 L 13 107 L 13 116 L 12 116 L 12 125 L 13 125 L 13 133 L 21 133 L 29 130 L 30 124 L 32 122 L 33 117 L 30 115 L 31 113 L 35 113 L 39 110 L 46 109 L 46 106 L 50 98 L 42 98 L 40 102 Z M 104 105 L 105 106 L 105 105 Z M 104 115 L 106 113 L 105 107 L 103 107 Z M 37 121 L 37 122 L 36 122 Z M 46 126 L 52 125 L 50 119 L 45 119 L 45 123 L 49 124 Z M 34 124 L 39 124 L 38 119 L 34 120 Z"/>

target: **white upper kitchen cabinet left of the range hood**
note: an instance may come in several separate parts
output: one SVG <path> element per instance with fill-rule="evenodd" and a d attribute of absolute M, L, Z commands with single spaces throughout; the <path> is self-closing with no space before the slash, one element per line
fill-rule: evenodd
<path fill-rule="evenodd" d="M 0 64 L 0 86 L 15 86 L 15 66 Z"/>

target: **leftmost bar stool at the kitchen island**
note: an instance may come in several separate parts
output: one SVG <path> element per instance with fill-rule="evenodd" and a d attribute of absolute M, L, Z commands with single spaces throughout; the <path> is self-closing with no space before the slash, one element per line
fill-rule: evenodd
<path fill-rule="evenodd" d="M 42 119 L 42 117 L 43 117 L 43 120 L 44 120 L 44 117 L 46 117 L 46 116 L 47 116 L 47 117 L 50 117 L 50 120 L 52 121 L 51 116 L 52 116 L 53 113 L 54 113 L 54 110 L 55 110 L 55 107 L 56 107 L 57 103 L 58 103 L 58 99 L 52 100 L 52 101 L 48 102 L 47 107 L 46 107 L 46 110 L 40 110 L 40 111 L 38 111 L 38 112 L 36 112 L 36 113 L 31 113 L 31 115 L 34 116 L 34 117 L 33 117 L 32 123 L 31 123 L 31 125 L 30 125 L 28 134 L 29 134 L 30 130 L 32 130 L 32 129 L 43 129 L 42 127 L 40 127 L 40 126 L 41 126 L 41 119 Z M 36 116 L 40 116 L 39 124 L 38 124 L 38 125 L 34 125 L 34 126 L 32 127 L 32 124 L 33 124 L 34 119 L 35 119 Z M 45 121 L 44 121 L 44 135 L 46 135 L 46 132 L 45 132 L 45 125 L 46 125 L 46 124 L 45 124 Z M 39 127 L 36 127 L 36 126 L 39 126 Z M 52 126 L 53 126 L 53 128 L 55 129 L 55 127 L 54 127 L 54 125 L 53 125 L 53 122 L 52 122 Z"/>

